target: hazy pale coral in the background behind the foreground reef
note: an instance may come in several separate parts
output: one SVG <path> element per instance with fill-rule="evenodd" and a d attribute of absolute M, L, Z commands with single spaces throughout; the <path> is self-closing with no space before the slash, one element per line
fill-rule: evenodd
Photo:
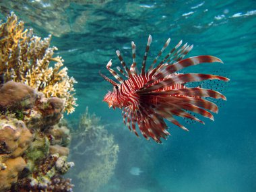
<path fill-rule="evenodd" d="M 76 165 L 71 173 L 75 172 L 78 191 L 96 191 L 113 176 L 119 146 L 100 125 L 100 119 L 89 115 L 88 108 L 77 127 L 71 129 L 71 158 Z"/>

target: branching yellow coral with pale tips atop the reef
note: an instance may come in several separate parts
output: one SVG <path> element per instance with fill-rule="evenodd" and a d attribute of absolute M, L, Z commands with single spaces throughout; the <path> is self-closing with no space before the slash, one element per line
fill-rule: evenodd
<path fill-rule="evenodd" d="M 65 99 L 65 111 L 75 110 L 74 98 L 76 83 L 67 75 L 61 57 L 53 57 L 57 47 L 50 47 L 51 35 L 41 39 L 33 35 L 32 29 L 24 30 L 24 22 L 18 22 L 12 12 L 7 22 L 0 23 L 0 75 L 5 82 L 22 82 L 43 92 L 46 97 L 56 96 Z M 54 67 L 51 61 L 55 62 Z"/>

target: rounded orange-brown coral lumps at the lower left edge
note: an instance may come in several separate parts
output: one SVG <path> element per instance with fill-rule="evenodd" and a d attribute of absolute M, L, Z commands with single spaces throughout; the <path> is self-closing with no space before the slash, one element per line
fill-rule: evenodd
<path fill-rule="evenodd" d="M 26 166 L 22 154 L 32 143 L 33 135 L 23 121 L 0 119 L 0 192 L 7 191 Z"/>

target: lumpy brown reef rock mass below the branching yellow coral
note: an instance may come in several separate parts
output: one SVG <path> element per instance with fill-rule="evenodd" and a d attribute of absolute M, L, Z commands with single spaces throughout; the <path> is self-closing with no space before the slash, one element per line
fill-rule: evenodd
<path fill-rule="evenodd" d="M 72 191 L 71 180 L 61 177 L 73 166 L 67 162 L 69 129 L 57 125 L 63 99 L 16 82 L 3 84 L 0 92 L 13 92 L 12 100 L 0 103 L 0 192 Z"/>

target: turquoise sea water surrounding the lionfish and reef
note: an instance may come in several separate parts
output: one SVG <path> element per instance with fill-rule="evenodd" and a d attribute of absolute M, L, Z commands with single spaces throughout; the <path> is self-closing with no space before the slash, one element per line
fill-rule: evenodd
<path fill-rule="evenodd" d="M 12 10 L 35 34 L 53 34 L 57 54 L 78 82 L 79 106 L 67 119 L 78 119 L 88 106 L 119 143 L 115 174 L 98 191 L 256 191 L 255 1 L 65 2 L 1 1 L 0 17 Z M 112 87 L 98 75 L 99 70 L 108 74 L 110 59 L 117 66 L 117 49 L 131 63 L 131 40 L 142 61 L 149 34 L 150 60 L 168 37 L 172 45 L 183 39 L 194 44 L 189 56 L 222 59 L 221 70 L 231 79 L 224 91 L 228 100 L 214 122 L 187 125 L 189 133 L 172 126 L 172 136 L 162 145 L 138 139 L 123 125 L 121 110 L 108 109 L 102 98 Z M 218 69 L 201 65 L 192 70 Z M 142 172 L 131 174 L 133 167 Z"/>

